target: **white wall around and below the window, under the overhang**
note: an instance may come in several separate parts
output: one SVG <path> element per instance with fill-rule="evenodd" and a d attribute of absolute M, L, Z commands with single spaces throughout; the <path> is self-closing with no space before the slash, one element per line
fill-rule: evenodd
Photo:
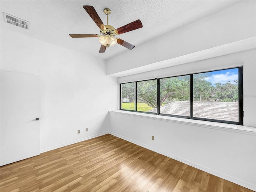
<path fill-rule="evenodd" d="M 256 127 L 256 50 L 121 77 L 118 82 L 236 66 L 243 66 L 244 125 Z M 256 190 L 256 133 L 215 128 L 110 112 L 111 134 Z"/>

